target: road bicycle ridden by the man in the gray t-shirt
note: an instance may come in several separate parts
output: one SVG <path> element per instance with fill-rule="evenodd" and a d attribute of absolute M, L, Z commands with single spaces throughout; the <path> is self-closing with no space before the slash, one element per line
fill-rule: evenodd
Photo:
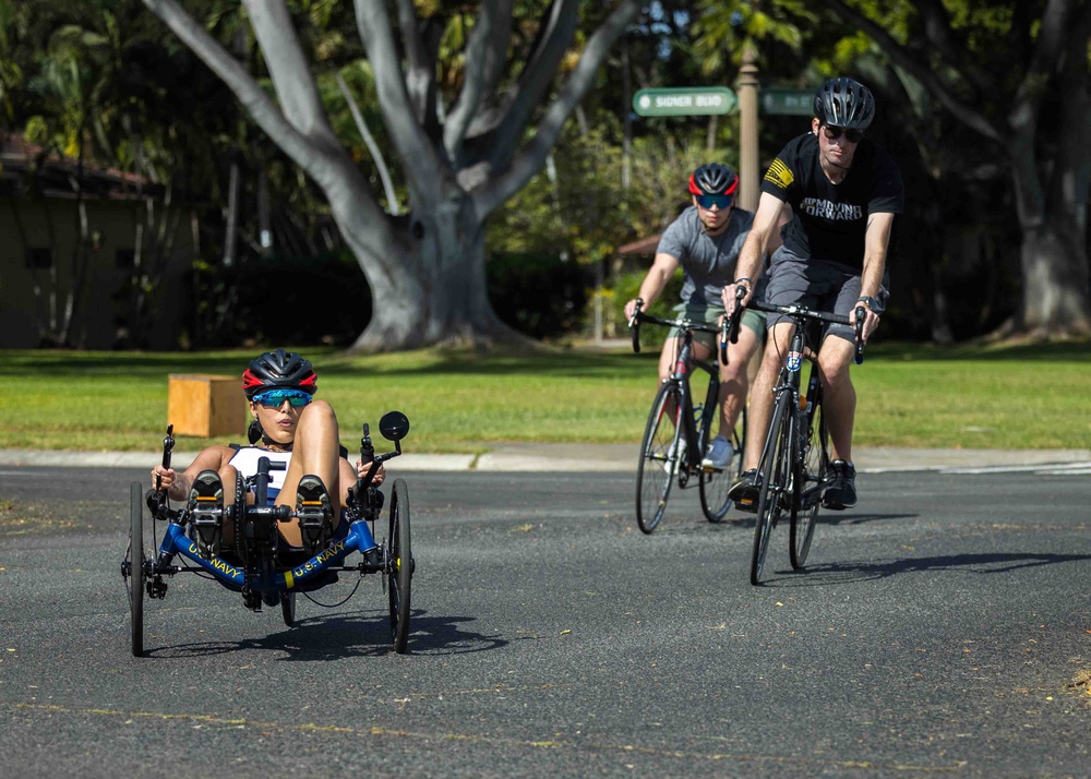
<path fill-rule="evenodd" d="M 674 360 L 674 370 L 662 383 L 651 404 L 644 439 L 640 442 L 640 459 L 636 474 L 636 522 L 640 530 L 651 534 L 663 518 L 671 488 L 678 481 L 679 489 L 697 479 L 700 508 L 711 523 L 723 520 L 731 507 L 728 490 L 739 476 L 742 465 L 743 445 L 746 440 L 746 414 L 740 415 L 739 423 L 728 440 L 734 446 L 734 454 L 727 468 L 705 467 L 702 459 L 715 438 L 714 424 L 720 417 L 720 371 L 714 362 L 698 360 L 693 356 L 693 334 L 718 333 L 727 337 L 727 323 L 717 327 L 688 319 L 667 320 L 640 311 L 630 320 L 633 334 L 633 351 L 640 351 L 640 323 L 675 327 L 682 333 L 682 344 Z M 721 353 L 724 352 L 721 349 Z M 694 406 L 690 381 L 693 368 L 708 374 L 705 402 Z"/>

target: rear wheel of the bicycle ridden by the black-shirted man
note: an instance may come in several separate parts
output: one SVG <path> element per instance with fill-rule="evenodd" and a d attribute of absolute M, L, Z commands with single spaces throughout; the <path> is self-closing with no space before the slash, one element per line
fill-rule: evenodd
<path fill-rule="evenodd" d="M 815 523 L 822 506 L 822 491 L 826 487 L 826 468 L 829 466 L 829 431 L 823 410 L 822 386 L 816 385 L 814 397 L 807 398 L 807 410 L 801 415 L 806 429 L 801 431 L 802 451 L 795 462 L 794 483 L 799 486 L 792 499 L 791 546 L 792 567 L 799 571 L 811 552 Z M 804 438 L 804 435 L 806 438 Z"/>

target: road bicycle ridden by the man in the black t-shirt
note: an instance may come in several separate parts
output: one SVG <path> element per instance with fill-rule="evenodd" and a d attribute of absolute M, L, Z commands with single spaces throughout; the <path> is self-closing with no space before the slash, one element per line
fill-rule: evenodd
<path fill-rule="evenodd" d="M 850 320 L 842 314 L 813 311 L 799 304 L 774 305 L 751 301 L 748 308 L 783 314 L 795 323 L 784 364 L 772 389 L 772 417 L 758 464 L 760 489 L 751 556 L 751 584 L 758 585 L 762 583 L 769 537 L 784 512 L 791 516 L 788 550 L 792 568 L 802 568 L 811 551 L 829 469 L 829 431 L 823 412 L 817 364 L 820 329 L 817 325 L 822 322 L 850 324 Z M 864 361 L 865 310 L 859 307 L 855 313 L 853 361 L 860 364 Z M 733 327 L 729 327 L 729 338 L 733 335 L 730 332 Z M 804 360 L 811 362 L 805 391 L 801 388 Z"/>

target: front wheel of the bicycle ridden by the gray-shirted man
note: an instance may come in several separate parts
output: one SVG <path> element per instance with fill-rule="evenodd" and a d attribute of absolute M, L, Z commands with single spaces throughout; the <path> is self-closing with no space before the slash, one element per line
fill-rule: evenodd
<path fill-rule="evenodd" d="M 644 532 L 652 532 L 667 511 L 671 484 L 682 464 L 678 457 L 679 409 L 682 392 L 667 382 L 656 395 L 640 443 L 640 462 L 636 472 L 636 523 Z"/>

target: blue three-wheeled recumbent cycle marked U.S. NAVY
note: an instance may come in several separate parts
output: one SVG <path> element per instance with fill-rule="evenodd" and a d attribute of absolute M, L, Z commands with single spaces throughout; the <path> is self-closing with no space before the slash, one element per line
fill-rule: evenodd
<path fill-rule="evenodd" d="M 167 427 L 167 436 L 163 440 L 165 468 L 170 467 L 175 445 L 172 429 L 173 426 Z M 171 508 L 166 490 L 152 489 L 145 493 L 140 481 L 132 482 L 129 489 L 129 547 L 121 562 L 121 577 L 129 594 L 133 656 L 144 655 L 144 599 L 166 598 L 167 579 L 181 573 L 214 578 L 228 589 L 241 592 L 243 604 L 252 611 L 261 611 L 263 604 L 279 606 L 288 627 L 296 624 L 298 592 L 307 594 L 332 584 L 337 580 L 337 572 L 357 573 L 356 587 L 364 576 L 379 574 L 389 596 L 394 651 L 404 654 L 409 640 L 410 586 L 415 568 L 409 535 L 409 492 L 404 479 L 394 480 L 386 537 L 376 543 L 375 522 L 385 501 L 372 481 L 381 463 L 401 454 L 401 439 L 409 432 L 409 419 L 400 411 L 389 411 L 380 420 L 379 429 L 394 443 L 395 451 L 375 454 L 369 428 L 363 426 L 360 458 L 372 465 L 349 491 L 341 514 L 341 522 L 347 522 L 347 532 L 332 536 L 320 532 L 321 548 L 313 553 L 300 554 L 298 550 L 288 549 L 277 532 L 278 523 L 298 516 L 304 539 L 308 535 L 315 537 L 311 527 L 315 519 L 305 510 L 297 513 L 290 506 L 267 505 L 269 474 L 286 467 L 284 462 L 276 459 L 276 453 L 271 452 L 268 457 L 259 459 L 255 476 L 237 480 L 233 501 L 228 502 L 225 496 L 223 506 L 213 510 Z M 245 500 L 248 487 L 254 491 L 253 504 Z M 231 541 L 224 538 L 225 519 L 235 526 Z M 158 547 L 154 546 L 156 524 L 163 526 Z M 145 538 L 152 546 L 145 543 Z M 353 552 L 360 555 L 356 564 L 346 564 L 346 558 Z M 356 587 L 345 600 L 356 592 Z"/>

